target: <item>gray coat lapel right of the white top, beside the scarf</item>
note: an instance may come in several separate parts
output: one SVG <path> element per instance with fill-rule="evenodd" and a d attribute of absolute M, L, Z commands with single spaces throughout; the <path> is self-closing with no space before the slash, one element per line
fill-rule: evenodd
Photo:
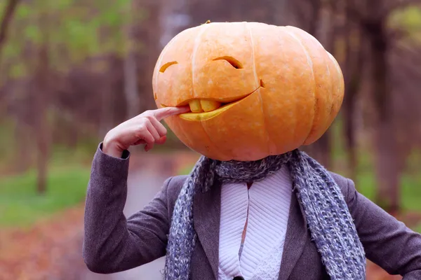
<path fill-rule="evenodd" d="M 305 221 L 304 212 L 300 203 L 298 203 L 295 192 L 292 195 L 279 280 L 288 279 L 308 240 L 307 221 Z"/>

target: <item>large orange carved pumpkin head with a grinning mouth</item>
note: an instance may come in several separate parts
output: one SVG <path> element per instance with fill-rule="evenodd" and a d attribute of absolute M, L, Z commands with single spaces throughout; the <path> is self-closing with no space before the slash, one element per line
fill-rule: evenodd
<path fill-rule="evenodd" d="M 344 96 L 340 66 L 316 38 L 258 22 L 182 31 L 161 52 L 152 85 L 159 108 L 221 103 L 166 123 L 192 150 L 224 161 L 312 144 L 333 123 Z"/>

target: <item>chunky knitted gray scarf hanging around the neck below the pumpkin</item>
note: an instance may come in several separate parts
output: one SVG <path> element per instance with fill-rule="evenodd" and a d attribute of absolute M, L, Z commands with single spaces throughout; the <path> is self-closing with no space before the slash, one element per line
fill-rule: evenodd
<path fill-rule="evenodd" d="M 187 280 L 196 240 L 193 197 L 206 192 L 215 180 L 223 183 L 254 182 L 288 165 L 302 205 L 312 241 L 332 280 L 366 279 L 366 258 L 340 188 L 319 162 L 295 150 L 253 162 L 220 162 L 202 156 L 175 202 L 168 235 L 165 279 Z"/>

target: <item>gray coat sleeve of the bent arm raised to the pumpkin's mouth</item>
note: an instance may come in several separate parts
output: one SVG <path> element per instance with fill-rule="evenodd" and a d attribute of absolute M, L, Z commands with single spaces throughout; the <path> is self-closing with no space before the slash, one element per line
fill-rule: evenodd
<path fill-rule="evenodd" d="M 166 253 L 168 185 L 147 207 L 126 219 L 129 153 L 113 158 L 98 147 L 86 196 L 83 260 L 88 269 L 108 274 L 138 267 Z"/>

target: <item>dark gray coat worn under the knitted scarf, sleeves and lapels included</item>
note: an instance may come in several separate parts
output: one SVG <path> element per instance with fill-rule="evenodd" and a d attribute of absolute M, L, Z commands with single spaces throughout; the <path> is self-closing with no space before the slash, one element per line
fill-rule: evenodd
<path fill-rule="evenodd" d="M 390 274 L 420 280 L 421 235 L 358 193 L 351 180 L 331 175 L 345 196 L 367 258 Z M 145 209 L 126 219 L 127 176 L 128 152 L 119 159 L 98 148 L 86 197 L 83 242 L 83 259 L 93 272 L 121 272 L 166 254 L 175 200 L 187 177 L 167 179 Z M 199 239 L 192 255 L 192 279 L 218 279 L 220 190 L 215 185 L 194 197 L 194 228 Z M 291 195 L 279 280 L 328 280 L 297 197 Z"/>

